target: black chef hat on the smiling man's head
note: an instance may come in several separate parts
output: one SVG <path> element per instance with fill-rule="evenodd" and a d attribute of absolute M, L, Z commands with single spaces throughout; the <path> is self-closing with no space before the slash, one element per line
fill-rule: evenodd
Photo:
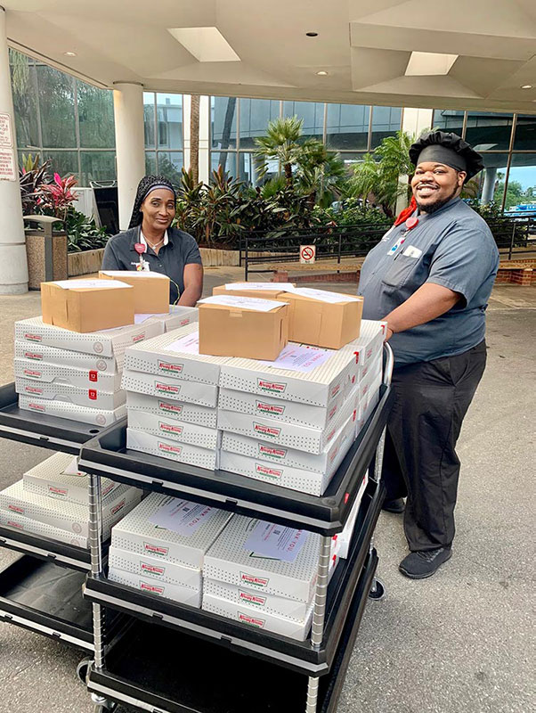
<path fill-rule="evenodd" d="M 457 171 L 465 171 L 466 184 L 483 169 L 482 156 L 467 141 L 439 129 L 427 131 L 410 146 L 410 160 L 415 166 L 424 161 L 437 161 Z"/>

